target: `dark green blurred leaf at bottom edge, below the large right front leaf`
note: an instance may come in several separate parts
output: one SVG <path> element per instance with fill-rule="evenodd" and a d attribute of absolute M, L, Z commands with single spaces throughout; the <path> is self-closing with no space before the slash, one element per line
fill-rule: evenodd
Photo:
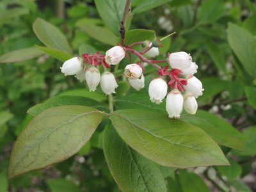
<path fill-rule="evenodd" d="M 189 173 L 187 170 L 179 170 L 179 182 L 184 192 L 210 191 L 199 175 Z"/>

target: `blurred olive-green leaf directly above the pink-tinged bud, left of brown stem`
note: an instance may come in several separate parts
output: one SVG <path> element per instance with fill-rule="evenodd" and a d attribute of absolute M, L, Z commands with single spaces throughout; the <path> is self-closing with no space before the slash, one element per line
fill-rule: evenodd
<path fill-rule="evenodd" d="M 99 42 L 108 45 L 117 44 L 118 38 L 107 28 L 102 28 L 96 26 L 95 24 L 89 23 L 84 24 L 83 26 L 79 26 L 79 28 L 85 31 L 88 35 L 92 36 L 92 38 L 95 38 L 95 40 L 98 40 Z"/>

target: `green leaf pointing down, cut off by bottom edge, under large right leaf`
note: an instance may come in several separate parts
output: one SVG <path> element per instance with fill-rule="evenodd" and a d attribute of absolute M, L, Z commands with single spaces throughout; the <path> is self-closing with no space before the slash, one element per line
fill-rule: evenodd
<path fill-rule="evenodd" d="M 109 170 L 122 191 L 166 191 L 159 168 L 122 141 L 111 124 L 103 137 Z"/>

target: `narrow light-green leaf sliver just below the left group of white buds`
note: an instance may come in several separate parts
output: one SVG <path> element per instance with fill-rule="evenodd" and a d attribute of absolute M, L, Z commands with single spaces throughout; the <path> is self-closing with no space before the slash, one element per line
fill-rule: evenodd
<path fill-rule="evenodd" d="M 65 92 L 60 93 L 58 96 L 63 96 L 63 95 L 87 97 L 93 100 L 97 100 L 98 102 L 102 102 L 107 99 L 105 95 L 100 94 L 98 92 L 90 92 L 85 88 L 66 90 Z"/>

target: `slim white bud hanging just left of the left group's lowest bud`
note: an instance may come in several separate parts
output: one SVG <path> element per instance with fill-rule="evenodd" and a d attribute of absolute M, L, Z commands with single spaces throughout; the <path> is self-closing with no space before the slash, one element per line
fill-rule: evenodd
<path fill-rule="evenodd" d="M 85 72 L 85 79 L 90 92 L 94 92 L 100 83 L 100 72 L 96 67 L 90 67 Z"/>

